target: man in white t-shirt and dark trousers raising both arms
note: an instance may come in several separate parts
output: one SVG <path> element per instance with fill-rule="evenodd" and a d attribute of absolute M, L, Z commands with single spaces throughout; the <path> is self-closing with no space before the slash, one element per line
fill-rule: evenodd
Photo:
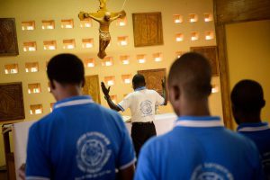
<path fill-rule="evenodd" d="M 110 87 L 106 88 L 102 82 L 102 89 L 105 99 L 110 108 L 119 112 L 124 112 L 130 108 L 131 111 L 131 138 L 136 151 L 137 157 L 139 156 L 139 149 L 142 145 L 152 136 L 156 136 L 156 128 L 154 124 L 155 111 L 157 105 L 166 105 L 166 88 L 165 80 L 162 81 L 163 94 L 162 96 L 154 90 L 146 88 L 144 76 L 137 74 L 132 78 L 132 86 L 134 92 L 128 94 L 124 99 L 114 104 L 110 98 Z"/>

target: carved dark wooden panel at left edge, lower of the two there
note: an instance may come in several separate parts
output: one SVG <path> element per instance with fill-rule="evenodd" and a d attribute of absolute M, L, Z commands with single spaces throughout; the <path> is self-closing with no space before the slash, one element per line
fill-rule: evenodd
<path fill-rule="evenodd" d="M 24 119 L 22 83 L 0 84 L 0 121 Z"/>

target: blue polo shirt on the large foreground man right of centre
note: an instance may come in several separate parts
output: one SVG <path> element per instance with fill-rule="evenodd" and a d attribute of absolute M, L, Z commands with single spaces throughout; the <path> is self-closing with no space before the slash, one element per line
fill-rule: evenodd
<path fill-rule="evenodd" d="M 135 180 L 156 179 L 263 179 L 263 171 L 255 144 L 219 117 L 183 116 L 140 151 Z"/>

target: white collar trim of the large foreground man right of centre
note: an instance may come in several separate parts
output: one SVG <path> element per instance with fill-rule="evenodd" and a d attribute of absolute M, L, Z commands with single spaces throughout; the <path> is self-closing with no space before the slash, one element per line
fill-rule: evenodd
<path fill-rule="evenodd" d="M 221 127 L 221 126 L 223 126 L 223 124 L 221 123 L 221 121 L 178 120 L 175 122 L 175 126 L 207 128 L 207 127 Z"/>

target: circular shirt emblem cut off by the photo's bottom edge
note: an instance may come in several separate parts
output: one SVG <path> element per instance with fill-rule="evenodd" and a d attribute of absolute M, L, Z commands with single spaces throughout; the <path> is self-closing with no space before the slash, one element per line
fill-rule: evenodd
<path fill-rule="evenodd" d="M 192 180 L 233 180 L 229 170 L 215 163 L 204 163 L 197 166 L 192 175 Z"/>

